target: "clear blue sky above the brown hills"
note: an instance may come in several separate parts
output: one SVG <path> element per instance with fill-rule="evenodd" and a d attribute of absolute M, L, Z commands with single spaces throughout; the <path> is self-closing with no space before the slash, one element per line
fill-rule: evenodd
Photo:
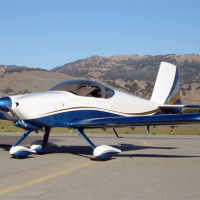
<path fill-rule="evenodd" d="M 0 0 L 0 64 L 200 53 L 198 0 Z"/>

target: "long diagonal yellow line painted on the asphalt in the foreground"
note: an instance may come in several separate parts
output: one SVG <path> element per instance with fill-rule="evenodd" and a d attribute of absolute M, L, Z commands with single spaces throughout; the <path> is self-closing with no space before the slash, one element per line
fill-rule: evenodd
<path fill-rule="evenodd" d="M 26 182 L 26 183 L 21 183 L 21 184 L 14 185 L 14 186 L 11 186 L 11 187 L 8 187 L 8 188 L 4 188 L 4 189 L 0 190 L 0 195 L 8 193 L 8 192 L 15 191 L 15 190 L 18 190 L 18 189 L 22 189 L 22 188 L 25 188 L 25 187 L 28 187 L 28 186 L 31 186 L 31 185 L 34 185 L 34 184 L 37 184 L 37 183 L 41 183 L 41 182 L 47 181 L 49 179 L 53 179 L 53 178 L 65 175 L 65 174 L 69 174 L 69 173 L 74 172 L 76 170 L 88 167 L 88 166 L 92 165 L 93 163 L 95 163 L 95 162 L 90 161 L 90 162 L 78 165 L 76 167 L 72 167 L 70 169 L 66 169 L 64 171 L 60 171 L 60 172 L 57 172 L 55 174 L 51 174 L 49 176 L 45 176 L 45 177 L 38 178 L 38 179 L 29 181 L 29 182 Z"/>

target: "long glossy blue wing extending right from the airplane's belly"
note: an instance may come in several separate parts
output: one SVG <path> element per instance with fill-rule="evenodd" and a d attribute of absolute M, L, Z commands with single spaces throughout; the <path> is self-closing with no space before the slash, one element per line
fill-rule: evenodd
<path fill-rule="evenodd" d="M 167 114 L 131 117 L 109 117 L 85 120 L 74 120 L 71 128 L 115 128 L 147 125 L 200 125 L 200 113 Z"/>

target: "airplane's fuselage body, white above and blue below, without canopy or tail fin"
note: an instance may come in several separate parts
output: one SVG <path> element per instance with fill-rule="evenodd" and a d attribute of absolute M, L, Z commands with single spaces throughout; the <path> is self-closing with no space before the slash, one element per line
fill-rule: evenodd
<path fill-rule="evenodd" d="M 30 124 L 70 127 L 77 119 L 154 114 L 158 107 L 151 101 L 114 90 L 111 98 L 78 96 L 66 91 L 47 91 L 10 97 L 12 109 Z M 14 120 L 10 112 L 3 112 Z"/>

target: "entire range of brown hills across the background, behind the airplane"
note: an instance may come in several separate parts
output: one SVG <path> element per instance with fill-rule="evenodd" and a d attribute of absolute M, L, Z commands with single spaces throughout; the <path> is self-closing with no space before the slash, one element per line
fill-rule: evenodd
<path fill-rule="evenodd" d="M 200 55 L 92 56 L 52 71 L 0 65 L 0 95 L 48 90 L 68 79 L 84 78 L 149 99 L 160 62 L 178 66 L 183 104 L 200 104 Z"/>

